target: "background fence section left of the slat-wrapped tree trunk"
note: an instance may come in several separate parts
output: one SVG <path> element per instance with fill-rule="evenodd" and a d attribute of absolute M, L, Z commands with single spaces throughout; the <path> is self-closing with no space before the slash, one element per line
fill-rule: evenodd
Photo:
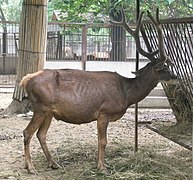
<path fill-rule="evenodd" d="M 15 22 L 0 22 L 0 86 L 15 82 L 19 26 Z"/>

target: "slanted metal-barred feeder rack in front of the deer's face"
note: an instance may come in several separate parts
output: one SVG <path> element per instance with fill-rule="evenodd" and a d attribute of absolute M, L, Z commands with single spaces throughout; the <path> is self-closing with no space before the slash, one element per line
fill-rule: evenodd
<path fill-rule="evenodd" d="M 193 18 L 161 21 L 167 55 L 174 62 L 179 84 L 163 84 L 174 114 L 179 121 L 193 117 Z M 157 48 L 157 35 L 150 23 L 143 24 L 150 47 Z M 151 37 L 151 38 L 149 38 Z"/>

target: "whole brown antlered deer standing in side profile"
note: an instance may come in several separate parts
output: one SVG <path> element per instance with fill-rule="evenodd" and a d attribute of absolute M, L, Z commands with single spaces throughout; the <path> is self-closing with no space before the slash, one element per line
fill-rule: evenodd
<path fill-rule="evenodd" d="M 141 48 L 139 29 L 143 14 L 140 14 L 135 31 L 127 25 L 123 12 L 122 22 L 116 23 L 135 38 L 139 53 L 151 61 L 135 72 L 136 78 L 126 78 L 107 71 L 47 69 L 22 79 L 20 85 L 26 89 L 34 111 L 31 121 L 23 131 L 25 164 L 29 173 L 36 172 L 30 155 L 30 141 L 36 131 L 48 167 L 60 167 L 53 160 L 46 144 L 46 134 L 53 117 L 73 124 L 97 121 L 98 168 L 106 170 L 104 158 L 109 122 L 120 119 L 131 104 L 144 99 L 159 82 L 176 82 L 176 75 L 166 65 L 170 60 L 164 52 L 159 22 L 149 12 L 148 17 L 158 32 L 159 50 L 146 52 Z"/>

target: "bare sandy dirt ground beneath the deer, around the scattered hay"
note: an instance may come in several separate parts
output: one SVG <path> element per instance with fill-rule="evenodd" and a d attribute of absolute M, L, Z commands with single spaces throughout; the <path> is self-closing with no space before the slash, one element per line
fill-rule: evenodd
<path fill-rule="evenodd" d="M 0 93 L 1 110 L 6 108 L 11 101 L 12 101 L 11 93 Z M 23 115 L 0 116 L 0 179 L 51 180 L 51 179 L 66 179 L 66 177 L 68 177 L 68 179 L 119 179 L 115 178 L 115 176 L 99 178 L 96 175 L 96 171 L 94 170 L 96 168 L 96 159 L 93 158 L 95 157 L 97 152 L 96 122 L 84 125 L 73 125 L 53 120 L 47 135 L 47 143 L 52 154 L 54 154 L 54 158 L 56 159 L 56 161 L 58 161 L 59 164 L 62 164 L 63 170 L 61 171 L 61 170 L 46 169 L 46 160 L 44 159 L 43 152 L 40 148 L 39 142 L 36 136 L 34 136 L 31 142 L 31 152 L 32 152 L 32 159 L 34 161 L 34 166 L 36 167 L 38 174 L 37 175 L 27 174 L 26 170 L 24 169 L 22 131 L 29 123 L 29 120 L 30 117 L 23 117 Z M 175 118 L 170 109 L 140 110 L 139 120 L 143 121 L 156 120 L 160 122 L 169 120 L 170 123 L 175 123 Z M 187 174 L 185 174 L 183 177 L 186 177 L 185 179 L 191 179 L 190 175 L 192 168 L 191 152 L 189 150 L 168 140 L 167 138 L 164 138 L 163 136 L 160 136 L 159 134 L 146 128 L 144 125 L 139 126 L 138 132 L 139 132 L 138 138 L 139 138 L 140 152 L 143 153 L 145 151 L 149 152 L 149 149 L 146 150 L 146 147 L 148 146 L 152 148 L 151 151 L 153 151 L 156 154 L 162 155 L 162 157 L 166 159 L 171 157 L 173 159 L 178 159 L 178 162 L 180 162 L 180 164 L 179 167 L 177 166 L 177 169 L 180 169 L 181 164 L 186 164 L 185 168 L 187 169 L 187 172 L 182 173 Z M 120 148 L 121 146 L 124 146 L 125 149 L 128 148 L 128 150 L 126 151 L 128 151 L 130 155 L 132 154 L 132 156 L 135 156 L 134 109 L 132 108 L 128 109 L 127 113 L 121 120 L 111 123 L 108 127 L 108 145 L 106 149 L 107 154 L 109 154 L 107 155 L 107 159 L 109 159 L 110 166 L 115 165 L 114 162 L 111 163 L 111 159 L 116 159 L 116 157 L 118 156 L 117 154 L 110 155 L 111 150 L 113 150 L 114 148 Z M 77 155 L 76 160 L 74 160 L 72 156 L 76 153 L 79 155 Z M 66 155 L 67 160 L 62 161 L 60 158 L 61 154 L 63 154 L 63 156 Z M 83 156 L 80 156 L 80 154 L 82 154 Z M 85 178 L 85 176 L 83 176 L 85 171 L 80 170 L 78 172 L 78 175 L 75 175 L 75 172 L 77 172 L 76 169 L 77 167 L 73 166 L 73 164 L 79 163 L 78 167 L 80 167 L 80 164 L 82 163 L 81 159 L 87 161 L 86 157 L 88 154 L 92 158 L 91 161 L 87 162 L 87 164 L 84 166 L 87 166 L 87 168 L 89 168 L 89 166 L 92 166 L 90 174 L 88 174 L 86 176 L 87 178 Z M 125 152 L 124 156 L 126 155 L 127 153 Z M 74 170 L 70 171 L 72 167 L 74 168 Z M 114 170 L 114 174 L 116 173 Z M 176 172 L 173 173 L 175 174 Z M 68 174 L 68 176 L 65 176 L 65 174 Z M 120 179 L 130 179 L 130 178 L 128 176 L 128 178 L 120 178 Z M 133 179 L 145 179 L 145 178 L 133 178 Z M 159 178 L 152 178 L 152 179 L 159 179 Z M 173 179 L 178 180 L 177 177 L 174 177 Z"/>

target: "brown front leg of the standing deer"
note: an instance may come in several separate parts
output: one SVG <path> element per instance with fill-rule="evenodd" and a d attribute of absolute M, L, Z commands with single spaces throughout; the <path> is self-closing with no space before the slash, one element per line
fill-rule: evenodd
<path fill-rule="evenodd" d="M 101 171 L 106 171 L 104 159 L 105 159 L 105 147 L 107 144 L 107 126 L 108 121 L 105 119 L 99 119 L 97 121 L 98 130 L 98 168 Z"/>

